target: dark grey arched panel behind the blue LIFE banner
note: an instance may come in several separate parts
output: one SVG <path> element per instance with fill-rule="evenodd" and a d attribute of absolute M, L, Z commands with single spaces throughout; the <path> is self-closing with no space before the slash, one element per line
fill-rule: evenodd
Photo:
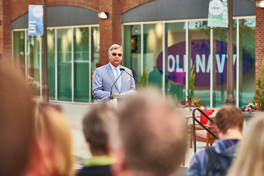
<path fill-rule="evenodd" d="M 47 7 L 47 26 L 98 24 L 98 11 L 71 5 Z M 28 28 L 28 13 L 11 22 L 11 29 Z"/>

